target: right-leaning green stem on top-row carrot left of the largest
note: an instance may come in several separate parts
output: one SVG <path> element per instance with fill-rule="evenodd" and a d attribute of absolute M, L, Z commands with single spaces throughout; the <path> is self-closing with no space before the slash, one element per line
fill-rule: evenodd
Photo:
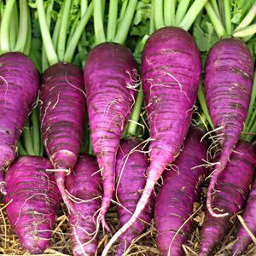
<path fill-rule="evenodd" d="M 124 44 L 127 38 L 129 29 L 131 27 L 131 22 L 137 7 L 137 0 L 130 0 L 125 12 L 124 19 L 121 20 L 116 36 L 113 40 L 115 43 Z"/>

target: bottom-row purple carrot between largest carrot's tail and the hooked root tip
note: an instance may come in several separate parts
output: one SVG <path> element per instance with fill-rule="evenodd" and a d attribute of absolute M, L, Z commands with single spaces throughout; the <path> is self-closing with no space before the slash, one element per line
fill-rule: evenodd
<path fill-rule="evenodd" d="M 168 171 L 154 206 L 154 224 L 161 255 L 183 255 L 183 244 L 191 230 L 194 203 L 200 200 L 201 184 L 207 169 L 201 164 L 207 156 L 203 133 L 191 128 L 182 153 L 174 162 L 177 172 Z M 193 168 L 198 166 L 196 168 Z"/>

